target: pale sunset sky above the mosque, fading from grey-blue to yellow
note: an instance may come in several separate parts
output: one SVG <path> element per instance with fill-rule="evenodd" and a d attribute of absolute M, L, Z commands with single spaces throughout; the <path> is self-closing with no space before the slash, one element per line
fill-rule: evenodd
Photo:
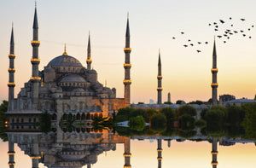
<path fill-rule="evenodd" d="M 9 38 L 15 27 L 15 95 L 31 77 L 33 0 L 0 2 L 0 101 L 8 99 Z M 211 68 L 213 37 L 208 23 L 229 20 L 238 28 L 256 24 L 252 0 L 38 0 L 40 70 L 67 54 L 86 65 L 90 31 L 92 67 L 99 81 L 124 96 L 125 24 L 127 12 L 131 28 L 131 102 L 148 102 L 157 96 L 157 61 L 160 49 L 163 73 L 163 100 L 207 101 L 212 94 Z M 241 23 L 240 18 L 246 21 Z M 182 36 L 180 32 L 185 32 Z M 172 37 L 177 37 L 172 40 Z M 253 98 L 256 94 L 256 28 L 249 38 L 216 39 L 218 54 L 218 94 Z M 187 39 L 207 41 L 197 48 L 184 48 Z"/>

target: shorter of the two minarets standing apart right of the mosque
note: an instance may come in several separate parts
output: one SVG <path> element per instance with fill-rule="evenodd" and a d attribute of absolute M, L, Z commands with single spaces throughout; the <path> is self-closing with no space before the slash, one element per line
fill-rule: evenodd
<path fill-rule="evenodd" d="M 158 75 L 157 75 L 157 104 L 162 104 L 162 65 L 159 51 L 158 58 Z"/>

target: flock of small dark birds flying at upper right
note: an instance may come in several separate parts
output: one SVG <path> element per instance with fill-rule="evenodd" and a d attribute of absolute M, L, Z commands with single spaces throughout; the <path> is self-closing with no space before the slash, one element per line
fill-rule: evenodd
<path fill-rule="evenodd" d="M 235 37 L 235 35 L 240 35 L 243 38 L 249 38 L 251 39 L 252 36 L 249 35 L 250 32 L 253 30 L 254 26 L 251 24 L 250 26 L 246 26 L 246 19 L 241 18 L 239 20 L 240 22 L 235 22 L 235 20 L 230 17 L 227 20 L 218 20 L 214 21 L 212 23 L 209 23 L 208 26 L 213 28 L 213 31 L 215 32 L 215 35 L 218 39 L 222 40 L 223 43 L 227 43 L 230 38 Z M 246 28 L 241 28 L 242 26 L 246 26 Z M 185 32 L 180 32 L 180 35 L 183 36 L 183 38 L 186 38 Z M 173 40 L 177 40 L 177 38 L 180 37 L 172 37 Z M 190 38 L 186 38 L 186 40 L 183 42 L 184 48 L 196 48 L 197 53 L 201 53 L 202 50 L 198 49 L 199 47 L 202 47 L 202 45 L 207 45 L 208 41 L 193 41 Z"/>

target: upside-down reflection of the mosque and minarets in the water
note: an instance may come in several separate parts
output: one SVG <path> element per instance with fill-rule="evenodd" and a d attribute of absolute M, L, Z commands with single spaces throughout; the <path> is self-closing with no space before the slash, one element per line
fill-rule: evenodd
<path fill-rule="evenodd" d="M 85 129 L 86 130 L 86 129 Z M 44 133 L 40 131 L 14 130 L 7 132 L 9 138 L 9 167 L 15 167 L 15 146 L 32 159 L 32 168 L 38 168 L 39 163 L 47 167 L 88 168 L 96 164 L 99 154 L 116 149 L 116 144 L 124 144 L 124 168 L 131 168 L 131 139 L 156 140 L 158 168 L 162 167 L 162 142 L 166 141 L 171 147 L 171 141 L 183 142 L 185 139 L 177 136 L 119 136 L 113 130 L 90 130 L 90 132 L 65 132 L 61 127 L 55 131 Z M 221 145 L 233 145 L 235 142 L 219 140 L 218 138 L 195 137 L 192 141 L 208 141 L 212 143 L 212 168 L 218 165 L 218 142 Z M 210 160 L 209 160 L 210 162 Z"/>

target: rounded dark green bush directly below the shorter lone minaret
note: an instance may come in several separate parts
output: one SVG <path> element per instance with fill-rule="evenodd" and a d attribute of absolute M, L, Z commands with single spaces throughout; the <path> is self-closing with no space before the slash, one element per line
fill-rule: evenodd
<path fill-rule="evenodd" d="M 162 113 L 157 113 L 152 116 L 150 120 L 151 129 L 156 131 L 162 131 L 166 129 L 166 116 Z"/>

